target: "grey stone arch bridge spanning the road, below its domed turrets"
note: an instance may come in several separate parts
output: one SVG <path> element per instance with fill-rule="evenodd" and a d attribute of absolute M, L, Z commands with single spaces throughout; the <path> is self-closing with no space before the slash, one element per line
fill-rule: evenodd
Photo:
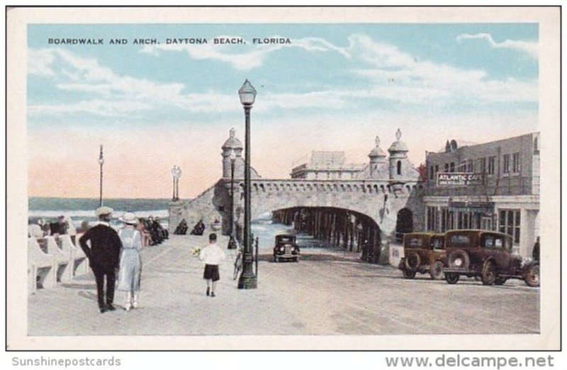
<path fill-rule="evenodd" d="M 242 224 L 244 183 L 234 181 L 235 223 Z M 422 230 L 422 184 L 417 181 L 384 180 L 306 180 L 306 179 L 252 179 L 252 220 L 271 213 L 277 220 L 290 223 L 296 213 L 324 220 L 309 231 L 314 236 L 330 235 L 328 228 L 337 232 L 339 223 L 344 232 L 333 236 L 332 242 L 348 249 L 361 250 L 359 240 L 366 235 L 373 245 L 386 244 L 396 233 Z M 220 179 L 215 185 L 191 201 L 169 203 L 169 225 L 175 228 L 181 219 L 191 226 L 203 220 L 207 225 L 214 220 L 222 223 L 223 233 L 230 232 L 231 181 Z M 349 225 L 346 225 L 346 218 Z M 361 225 L 361 226 L 359 226 Z M 362 230 L 359 230 L 360 227 Z M 353 228 L 356 228 L 352 230 Z M 371 236 L 373 235 L 374 236 Z M 384 243 L 386 242 L 386 243 Z M 378 247 L 376 247 L 378 248 Z M 371 254 L 371 260 L 378 250 Z"/>

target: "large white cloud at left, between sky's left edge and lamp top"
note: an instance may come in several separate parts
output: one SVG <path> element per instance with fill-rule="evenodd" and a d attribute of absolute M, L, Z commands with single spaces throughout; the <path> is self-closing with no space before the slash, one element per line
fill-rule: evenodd
<path fill-rule="evenodd" d="M 184 84 L 162 84 L 120 76 L 94 59 L 67 50 L 30 49 L 30 60 L 34 61 L 30 74 L 48 76 L 53 79 L 55 88 L 84 97 L 84 100 L 73 103 L 31 105 L 28 107 L 31 116 L 65 113 L 120 116 L 164 106 L 194 112 L 226 111 L 234 105 L 228 98 L 215 94 L 184 94 Z M 230 101 L 234 100 L 231 96 Z"/>

